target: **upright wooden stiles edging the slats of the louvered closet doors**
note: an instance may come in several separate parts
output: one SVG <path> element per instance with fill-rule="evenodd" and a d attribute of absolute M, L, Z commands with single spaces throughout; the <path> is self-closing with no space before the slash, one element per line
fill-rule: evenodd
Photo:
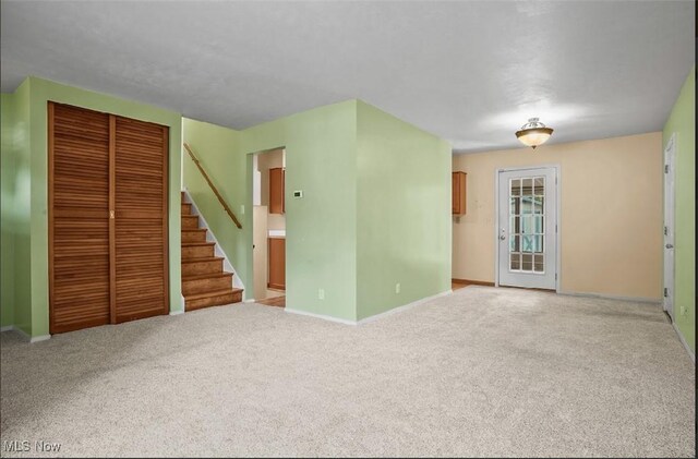
<path fill-rule="evenodd" d="M 49 291 L 49 333 L 55 334 L 55 107 L 52 100 L 47 102 L 47 137 L 48 137 L 48 291 Z M 83 108 L 72 106 L 75 108 Z M 86 109 L 92 110 L 92 109 Z M 92 110 L 98 111 L 98 110 Z M 104 113 L 104 112 L 103 112 Z M 117 324 L 117 238 L 116 238 L 116 196 L 117 196 L 117 167 L 116 167 L 116 125 L 117 117 L 109 114 L 109 318 L 110 324 Z M 128 117 L 123 117 L 128 119 Z M 155 124 L 155 123 L 154 123 Z M 164 306 L 163 315 L 169 314 L 169 189 L 168 189 L 168 166 L 169 166 L 169 126 L 157 124 L 163 131 L 163 286 Z"/>

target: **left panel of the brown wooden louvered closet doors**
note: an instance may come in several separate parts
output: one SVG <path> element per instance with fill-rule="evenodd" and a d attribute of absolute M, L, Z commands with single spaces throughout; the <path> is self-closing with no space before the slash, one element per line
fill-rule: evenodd
<path fill-rule="evenodd" d="M 109 116 L 59 104 L 49 125 L 49 330 L 109 323 Z"/>

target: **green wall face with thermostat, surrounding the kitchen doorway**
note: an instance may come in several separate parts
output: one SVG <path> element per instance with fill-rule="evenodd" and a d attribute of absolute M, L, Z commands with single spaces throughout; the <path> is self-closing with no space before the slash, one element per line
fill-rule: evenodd
<path fill-rule="evenodd" d="M 245 208 L 252 208 L 252 156 L 286 147 L 286 305 L 357 318 L 357 101 L 348 100 L 242 131 L 240 152 Z M 302 198 L 293 198 L 302 190 Z M 246 247 L 252 247 L 252 213 L 245 213 Z M 238 267 L 236 266 L 238 269 Z M 245 275 L 252 273 L 248 251 Z M 245 285 L 252 288 L 252 281 Z M 324 289 L 325 299 L 318 299 Z"/>

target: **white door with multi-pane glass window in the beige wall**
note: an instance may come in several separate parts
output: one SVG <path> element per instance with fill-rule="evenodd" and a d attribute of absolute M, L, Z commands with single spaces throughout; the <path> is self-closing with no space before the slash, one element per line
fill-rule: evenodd
<path fill-rule="evenodd" d="M 556 169 L 500 171 L 497 194 L 498 285 L 555 290 Z"/>

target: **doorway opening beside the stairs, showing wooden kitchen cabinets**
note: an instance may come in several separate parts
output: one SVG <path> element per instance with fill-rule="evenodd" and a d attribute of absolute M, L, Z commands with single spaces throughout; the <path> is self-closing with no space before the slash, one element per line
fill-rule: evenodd
<path fill-rule="evenodd" d="M 252 158 L 253 293 L 256 303 L 286 306 L 286 148 Z"/>

